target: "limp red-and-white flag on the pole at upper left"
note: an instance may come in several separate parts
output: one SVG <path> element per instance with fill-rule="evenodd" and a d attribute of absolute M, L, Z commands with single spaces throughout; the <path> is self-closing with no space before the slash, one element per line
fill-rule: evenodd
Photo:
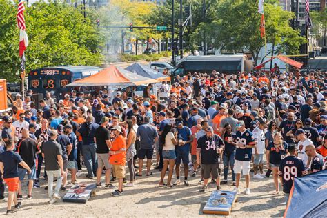
<path fill-rule="evenodd" d="M 28 46 L 28 36 L 26 33 L 24 11 L 25 7 L 23 0 L 19 0 L 17 12 L 17 26 L 19 28 L 19 57 L 23 57 L 23 53 Z"/>

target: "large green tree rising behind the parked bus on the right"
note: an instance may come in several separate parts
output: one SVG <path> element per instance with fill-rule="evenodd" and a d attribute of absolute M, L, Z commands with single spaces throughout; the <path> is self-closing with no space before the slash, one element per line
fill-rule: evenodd
<path fill-rule="evenodd" d="M 273 2 L 273 3 L 270 3 Z M 215 19 L 210 23 L 200 23 L 192 34 L 192 40 L 199 43 L 199 37 L 206 32 L 206 40 L 214 48 L 235 52 L 250 52 L 255 65 L 264 39 L 261 39 L 258 0 L 225 0 L 212 6 Z M 298 30 L 293 30 L 289 20 L 292 12 L 282 10 L 275 1 L 264 5 L 266 19 L 266 42 L 277 46 L 277 52 L 297 54 L 299 46 L 305 43 Z"/>

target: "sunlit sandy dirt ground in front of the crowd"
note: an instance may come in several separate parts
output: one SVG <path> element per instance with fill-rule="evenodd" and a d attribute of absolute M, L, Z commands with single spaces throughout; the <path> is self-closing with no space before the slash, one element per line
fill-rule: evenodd
<path fill-rule="evenodd" d="M 128 168 L 126 167 L 126 170 Z M 209 191 L 200 193 L 197 177 L 189 177 L 190 186 L 184 186 L 183 181 L 173 188 L 159 188 L 160 172 L 152 169 L 152 176 L 137 177 L 137 184 L 132 188 L 124 188 L 123 195 L 112 197 L 113 190 L 97 188 L 97 195 L 92 196 L 86 204 L 72 204 L 58 201 L 48 204 L 46 181 L 41 179 L 41 188 L 34 188 L 32 199 L 26 199 L 26 182 L 23 183 L 23 200 L 21 208 L 9 215 L 10 217 L 204 217 L 202 208 L 206 204 L 215 185 L 209 185 Z M 143 171 L 143 174 L 145 172 Z M 95 182 L 86 179 L 86 170 L 78 177 L 78 181 Z M 252 173 L 251 173 L 252 177 Z M 129 176 L 126 175 L 128 179 Z M 183 171 L 181 171 L 183 180 Z M 231 178 L 229 178 L 231 181 Z M 165 180 L 166 181 L 166 180 Z M 175 177 L 172 178 L 175 181 Z M 117 185 L 117 182 L 113 183 Z M 234 186 L 226 184 L 223 190 L 232 190 Z M 241 179 L 241 190 L 245 189 L 244 178 Z M 251 194 L 238 195 L 238 202 L 232 208 L 230 217 L 282 217 L 284 195 L 273 195 L 275 190 L 273 178 L 252 179 Z M 7 191 L 7 190 L 6 190 Z M 60 192 L 63 196 L 64 192 Z M 0 203 L 0 215 L 6 213 L 6 201 Z"/>

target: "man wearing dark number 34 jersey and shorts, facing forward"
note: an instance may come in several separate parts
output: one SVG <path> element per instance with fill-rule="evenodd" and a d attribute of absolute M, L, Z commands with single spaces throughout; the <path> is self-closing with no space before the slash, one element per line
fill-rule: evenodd
<path fill-rule="evenodd" d="M 204 176 L 204 186 L 202 186 L 200 192 L 208 190 L 207 184 L 210 176 L 212 179 L 217 179 L 217 190 L 221 190 L 219 164 L 221 163 L 223 149 L 224 141 L 219 135 L 213 133 L 211 126 L 208 126 L 206 135 L 200 137 L 197 141 L 197 164 L 201 163 L 201 171 Z"/>

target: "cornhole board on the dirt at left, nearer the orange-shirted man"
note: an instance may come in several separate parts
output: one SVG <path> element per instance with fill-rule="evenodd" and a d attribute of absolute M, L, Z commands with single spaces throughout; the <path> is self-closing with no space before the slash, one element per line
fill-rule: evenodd
<path fill-rule="evenodd" d="M 95 195 L 96 184 L 80 183 L 68 189 L 68 192 L 63 196 L 63 202 L 86 203 L 91 195 Z"/>

